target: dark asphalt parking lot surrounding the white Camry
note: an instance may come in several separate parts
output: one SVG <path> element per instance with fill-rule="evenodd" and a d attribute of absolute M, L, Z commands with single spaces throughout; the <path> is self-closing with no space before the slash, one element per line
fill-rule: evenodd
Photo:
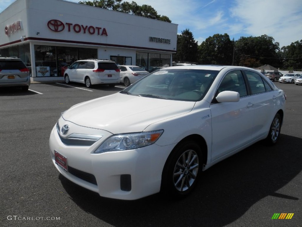
<path fill-rule="evenodd" d="M 48 140 L 60 113 L 124 86 L 1 88 L 0 226 L 302 226 L 302 86 L 276 85 L 287 94 L 278 144 L 259 142 L 214 165 L 190 196 L 176 201 L 159 194 L 137 201 L 101 198 L 53 166 Z M 275 213 L 294 215 L 272 219 Z"/>

